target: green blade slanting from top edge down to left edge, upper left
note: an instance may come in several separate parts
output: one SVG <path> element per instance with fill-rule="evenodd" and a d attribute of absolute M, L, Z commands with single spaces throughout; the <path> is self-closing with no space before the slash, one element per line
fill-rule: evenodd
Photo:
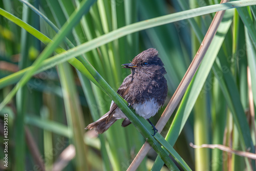
<path fill-rule="evenodd" d="M 57 48 L 60 42 L 66 37 L 66 35 L 71 31 L 71 29 L 79 22 L 82 15 L 86 14 L 90 7 L 94 4 L 96 0 L 88 0 L 82 1 L 79 9 L 75 11 L 67 21 L 67 23 L 61 28 L 59 33 L 53 38 L 53 41 L 49 43 L 49 45 L 45 48 L 45 50 L 38 56 L 38 58 L 33 63 L 33 68 L 31 72 L 26 72 L 23 78 L 16 84 L 16 86 L 12 89 L 12 91 L 5 97 L 3 102 L 0 104 L 0 111 L 3 107 L 12 99 L 12 97 L 16 94 L 19 88 L 22 88 L 34 72 L 41 66 L 41 62 L 48 58 L 51 53 Z"/>

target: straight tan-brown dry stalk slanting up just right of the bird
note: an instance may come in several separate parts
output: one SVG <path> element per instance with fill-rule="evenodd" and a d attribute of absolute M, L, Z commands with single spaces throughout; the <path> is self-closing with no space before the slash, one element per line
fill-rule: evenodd
<path fill-rule="evenodd" d="M 221 3 L 226 3 L 228 0 L 222 0 Z M 214 19 L 212 19 L 212 22 L 210 24 L 210 27 L 205 34 L 205 37 L 201 43 L 200 48 L 197 51 L 197 54 L 195 55 L 193 61 L 190 63 L 190 66 L 188 67 L 183 79 L 181 80 L 177 90 L 175 91 L 172 99 L 170 99 L 168 105 L 166 106 L 161 118 L 156 124 L 156 128 L 158 129 L 158 132 L 160 133 L 167 121 L 169 120 L 170 116 L 172 116 L 174 110 L 176 109 L 177 105 L 179 104 L 182 96 L 184 95 L 189 83 L 191 82 L 192 78 L 194 77 L 197 69 L 199 68 L 199 65 L 201 61 L 203 60 L 203 57 L 208 50 L 210 43 L 212 39 L 214 38 L 217 29 L 220 25 L 220 22 L 223 18 L 225 11 L 218 11 L 216 12 Z M 132 164 L 129 166 L 127 170 L 136 170 L 139 166 L 139 164 L 142 162 L 148 151 L 150 151 L 150 144 L 147 142 L 144 143 L 144 145 L 141 147 L 139 153 L 133 160 Z"/>

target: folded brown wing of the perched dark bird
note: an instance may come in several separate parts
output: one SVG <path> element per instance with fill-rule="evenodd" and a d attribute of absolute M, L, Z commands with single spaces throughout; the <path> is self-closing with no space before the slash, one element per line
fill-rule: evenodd
<path fill-rule="evenodd" d="M 124 78 L 123 83 L 121 84 L 121 86 L 117 90 L 117 93 L 122 98 L 125 98 L 125 96 L 129 93 L 129 89 L 131 87 L 131 82 L 132 82 L 132 74 L 127 76 L 126 78 Z M 110 121 L 110 119 L 113 117 L 113 114 L 114 114 L 113 112 L 116 110 L 116 108 L 117 108 L 116 103 L 113 103 L 110 107 L 109 116 L 106 119 L 106 123 L 108 123 Z"/>

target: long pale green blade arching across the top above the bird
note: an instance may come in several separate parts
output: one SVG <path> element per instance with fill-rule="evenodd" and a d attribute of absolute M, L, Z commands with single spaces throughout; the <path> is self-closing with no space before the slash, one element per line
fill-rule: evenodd
<path fill-rule="evenodd" d="M 44 62 L 41 63 L 40 71 L 44 71 L 49 68 L 52 68 L 53 66 L 57 65 L 58 63 L 67 61 L 67 60 L 73 58 L 74 56 L 78 56 L 82 53 L 89 52 L 90 50 L 93 50 L 94 48 L 97 48 L 101 45 L 104 45 L 110 41 L 113 41 L 117 38 L 120 38 L 120 37 L 130 34 L 130 33 L 134 33 L 134 32 L 144 30 L 147 28 L 160 26 L 160 25 L 167 24 L 167 23 L 173 23 L 178 20 L 187 19 L 187 18 L 191 18 L 194 16 L 208 14 L 211 12 L 227 10 L 227 9 L 231 9 L 231 8 L 238 8 L 238 7 L 243 7 L 243 6 L 250 6 L 250 5 L 256 5 L 256 1 L 253 0 L 253 1 L 247 2 L 245 0 L 242 0 L 242 1 L 212 5 L 212 6 L 207 6 L 207 7 L 201 7 L 201 8 L 197 8 L 197 9 L 177 12 L 174 14 L 156 17 L 156 18 L 148 19 L 148 20 L 138 22 L 135 24 L 131 24 L 129 26 L 125 26 L 125 27 L 122 27 L 115 31 L 112 31 L 110 33 L 104 34 L 100 37 L 97 37 L 97 38 L 91 40 L 91 41 L 85 42 L 84 44 L 79 45 L 76 48 L 70 49 L 65 53 L 61 53 L 61 54 L 55 55 L 47 60 L 44 60 Z M 3 11 L 3 10 L 0 8 L 0 12 L 1 11 Z M 200 11 L 200 12 L 195 13 L 195 11 Z M 33 70 L 33 74 L 36 73 L 33 68 L 34 67 L 31 67 L 27 71 L 31 72 L 31 70 Z M 15 78 L 18 78 L 23 75 L 23 72 L 18 73 L 18 74 L 14 73 L 14 75 L 16 76 Z M 7 83 L 6 80 L 3 80 L 3 79 L 4 78 L 0 79 L 0 82 Z M 1 87 L 1 83 L 0 83 L 0 87 Z"/>

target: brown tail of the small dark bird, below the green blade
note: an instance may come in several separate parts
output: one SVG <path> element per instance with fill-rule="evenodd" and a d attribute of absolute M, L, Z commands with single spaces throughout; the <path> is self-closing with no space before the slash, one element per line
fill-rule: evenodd
<path fill-rule="evenodd" d="M 106 122 L 106 119 L 109 116 L 109 112 L 103 115 L 101 118 L 99 118 L 97 121 L 90 123 L 87 127 L 86 130 L 92 130 L 95 129 L 98 134 L 104 133 L 106 130 L 109 129 L 109 127 L 115 123 L 117 120 L 115 117 L 111 117 L 108 122 Z"/>

